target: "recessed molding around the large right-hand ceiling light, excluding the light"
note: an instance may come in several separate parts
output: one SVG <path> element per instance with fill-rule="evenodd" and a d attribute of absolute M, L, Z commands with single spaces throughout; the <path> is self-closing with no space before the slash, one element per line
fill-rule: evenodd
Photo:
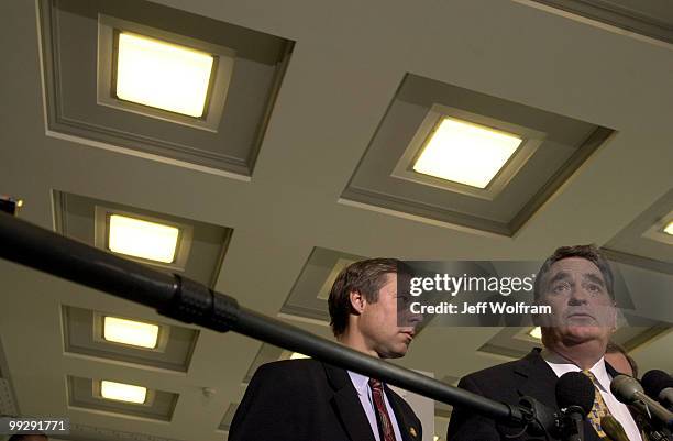
<path fill-rule="evenodd" d="M 523 142 L 485 188 L 417 173 L 413 158 L 439 120 Z M 340 202 L 512 238 L 603 146 L 614 130 L 518 102 L 405 75 Z"/>

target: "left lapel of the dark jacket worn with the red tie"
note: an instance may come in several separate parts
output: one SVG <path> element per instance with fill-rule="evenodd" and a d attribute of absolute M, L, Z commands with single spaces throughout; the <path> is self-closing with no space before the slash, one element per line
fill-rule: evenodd
<path fill-rule="evenodd" d="M 362 408 L 357 390 L 355 390 L 349 373 L 326 363 L 322 365 L 327 378 L 334 389 L 331 401 L 343 429 L 353 441 L 375 441 L 369 420 Z"/>

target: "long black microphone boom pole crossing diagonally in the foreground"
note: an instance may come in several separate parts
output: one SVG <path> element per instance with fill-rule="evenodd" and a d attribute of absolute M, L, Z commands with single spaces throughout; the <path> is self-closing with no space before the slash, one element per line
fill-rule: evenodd
<path fill-rule="evenodd" d="M 234 331 L 374 376 L 437 401 L 468 407 L 510 426 L 533 423 L 526 408 L 494 401 L 362 354 L 300 328 L 241 307 L 230 296 L 166 274 L 0 212 L 0 257 L 156 309 L 173 319 Z"/>

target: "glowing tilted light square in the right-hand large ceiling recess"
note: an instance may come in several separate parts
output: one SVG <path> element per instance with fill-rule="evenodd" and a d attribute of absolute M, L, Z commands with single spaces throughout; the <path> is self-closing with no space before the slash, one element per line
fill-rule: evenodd
<path fill-rule="evenodd" d="M 486 188 L 521 141 L 484 125 L 444 118 L 413 164 L 413 170 Z"/>

